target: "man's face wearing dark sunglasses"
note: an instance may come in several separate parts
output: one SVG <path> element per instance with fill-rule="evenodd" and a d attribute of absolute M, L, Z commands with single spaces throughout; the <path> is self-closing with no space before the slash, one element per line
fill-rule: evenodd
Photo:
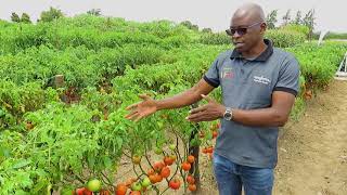
<path fill-rule="evenodd" d="M 266 24 L 259 20 L 247 17 L 233 17 L 230 28 L 234 32 L 231 38 L 239 52 L 252 50 L 260 40 L 266 29 Z"/>

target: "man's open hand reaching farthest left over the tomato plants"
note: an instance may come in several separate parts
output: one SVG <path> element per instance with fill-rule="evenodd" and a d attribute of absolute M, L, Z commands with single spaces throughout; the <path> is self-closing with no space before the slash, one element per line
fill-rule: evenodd
<path fill-rule="evenodd" d="M 127 119 L 138 121 L 157 110 L 156 102 L 145 94 L 140 94 L 143 101 L 128 106 L 126 109 L 130 113 L 126 116 Z"/>

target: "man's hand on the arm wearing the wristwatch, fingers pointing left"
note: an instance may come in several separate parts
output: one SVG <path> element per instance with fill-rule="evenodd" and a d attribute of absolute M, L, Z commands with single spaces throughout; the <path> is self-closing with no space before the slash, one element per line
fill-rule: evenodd
<path fill-rule="evenodd" d="M 211 121 L 221 118 L 226 112 L 226 107 L 209 96 L 202 94 L 208 103 L 206 105 L 200 106 L 190 112 L 190 115 L 185 118 L 189 121 Z"/>

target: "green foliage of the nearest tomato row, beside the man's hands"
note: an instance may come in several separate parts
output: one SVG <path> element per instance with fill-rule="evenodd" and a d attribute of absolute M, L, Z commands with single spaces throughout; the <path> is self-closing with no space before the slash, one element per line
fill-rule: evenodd
<path fill-rule="evenodd" d="M 210 49 L 205 50 L 206 53 L 209 51 Z M 195 53 L 198 54 L 201 51 L 195 50 Z M 205 60 L 206 56 L 208 55 L 205 55 Z M 187 57 L 189 58 L 189 56 L 183 56 L 183 58 Z M 190 61 L 195 62 L 195 64 L 191 64 L 195 68 L 198 66 L 197 63 L 201 63 L 200 56 L 197 60 Z M 207 61 L 209 60 L 207 58 Z M 162 66 L 166 67 L 167 65 Z M 183 67 L 183 64 L 180 64 L 180 67 Z M 157 74 L 166 74 L 166 72 Z M 131 79 L 131 77 L 128 79 Z M 175 83 L 167 84 L 174 86 L 179 83 L 177 80 Z M 75 186 L 81 186 L 90 178 L 94 177 L 99 178 L 99 180 L 105 180 L 103 183 L 108 182 L 108 184 L 112 184 L 113 182 L 110 181 L 112 181 L 112 176 L 114 176 L 113 168 L 117 165 L 120 156 L 125 155 L 123 152 L 127 151 L 127 155 L 131 157 L 133 154 L 143 155 L 145 151 L 151 151 L 154 147 L 153 143 L 156 144 L 155 147 L 165 147 L 168 143 L 174 143 L 172 140 L 166 139 L 165 131 L 162 130 L 162 133 L 158 133 L 167 125 L 175 127 L 172 131 L 176 131 L 177 139 L 181 140 L 181 143 L 189 143 L 187 135 L 191 133 L 187 131 L 192 131 L 194 128 L 189 122 L 182 126 L 181 120 L 183 117 L 178 117 L 177 113 L 168 114 L 167 117 L 169 119 L 160 121 L 158 117 L 154 117 L 144 120 L 139 126 L 129 123 L 129 121 L 124 119 L 125 112 L 120 108 L 121 105 L 129 105 L 138 101 L 136 95 L 139 92 L 138 90 L 143 91 L 143 88 L 140 86 L 137 88 L 136 86 L 136 80 L 133 80 L 132 88 L 129 88 L 130 90 L 119 91 L 115 88 L 111 94 L 98 92 L 95 88 L 86 89 L 87 91 L 81 98 L 80 105 L 66 107 L 66 105 L 61 103 L 49 103 L 46 105 L 46 108 L 34 113 L 26 113 L 24 122 L 21 123 L 24 133 L 16 131 L 2 133 L 2 135 L 8 134 L 10 136 L 2 140 L 20 136 L 18 143 L 11 143 L 11 145 L 18 145 L 22 148 L 2 145 L 2 148 L 7 151 L 4 154 L 8 154 L 5 160 L 2 161 L 2 165 L 8 165 L 2 170 L 4 176 L 1 176 L 2 182 L 4 182 L 2 185 L 3 192 L 14 192 L 16 190 L 15 192 L 38 193 L 42 188 L 50 186 L 54 188 L 68 188 L 74 181 L 80 182 L 79 185 L 75 184 Z M 52 94 L 52 96 L 57 99 L 57 93 Z M 53 100 L 55 99 L 53 98 Z M 110 105 L 115 105 L 115 107 L 112 108 Z M 184 110 L 184 114 L 187 112 Z M 118 134 L 113 134 L 112 132 Z M 133 143 L 141 144 L 133 145 Z M 143 143 L 146 143 L 146 145 L 143 145 Z M 188 154 L 187 146 L 183 151 L 185 151 L 184 154 Z M 185 156 L 181 155 L 177 158 L 179 159 L 177 162 L 182 164 Z M 22 180 L 14 180 L 16 179 L 15 177 L 5 177 L 11 171 L 20 172 L 24 169 L 31 169 L 31 171 L 22 176 L 25 177 Z M 139 179 L 143 180 L 141 177 Z M 172 182 L 178 182 L 177 177 L 170 178 L 167 182 L 170 183 L 171 180 Z M 193 184 L 192 188 L 194 188 Z M 114 188 L 108 186 L 108 190 L 112 191 Z"/>

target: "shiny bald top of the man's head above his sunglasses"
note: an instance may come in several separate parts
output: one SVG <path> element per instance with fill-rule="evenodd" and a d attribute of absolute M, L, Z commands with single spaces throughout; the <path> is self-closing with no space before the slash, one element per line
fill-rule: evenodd
<path fill-rule="evenodd" d="M 258 4 L 255 3 L 246 3 L 240 6 L 233 17 L 234 22 L 243 22 L 243 23 L 255 23 L 255 22 L 265 22 L 265 14 Z"/>

